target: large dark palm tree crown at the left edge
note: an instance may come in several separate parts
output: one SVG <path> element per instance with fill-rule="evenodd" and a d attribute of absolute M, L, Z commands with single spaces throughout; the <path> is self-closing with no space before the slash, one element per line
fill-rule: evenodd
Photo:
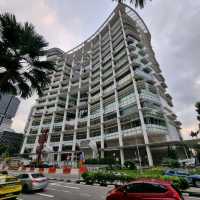
<path fill-rule="evenodd" d="M 36 91 L 41 96 L 50 83 L 47 72 L 55 70 L 53 62 L 41 59 L 47 46 L 32 24 L 0 14 L 0 93 L 27 98 Z"/>

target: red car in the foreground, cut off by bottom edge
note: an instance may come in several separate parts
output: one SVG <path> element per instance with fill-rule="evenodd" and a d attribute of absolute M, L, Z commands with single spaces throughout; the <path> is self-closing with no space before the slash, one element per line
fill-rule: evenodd
<path fill-rule="evenodd" d="M 186 200 L 168 181 L 140 180 L 115 187 L 106 200 Z"/>

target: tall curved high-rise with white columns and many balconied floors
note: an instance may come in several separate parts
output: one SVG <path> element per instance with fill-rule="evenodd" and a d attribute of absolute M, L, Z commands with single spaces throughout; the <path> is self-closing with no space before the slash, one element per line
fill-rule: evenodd
<path fill-rule="evenodd" d="M 32 110 L 22 154 L 36 152 L 46 128 L 58 162 L 77 147 L 96 157 L 92 141 L 101 157 L 152 166 L 163 144 L 181 140 L 151 35 L 129 6 L 118 4 L 89 39 L 66 53 L 50 49 L 47 59 L 57 72 Z"/>

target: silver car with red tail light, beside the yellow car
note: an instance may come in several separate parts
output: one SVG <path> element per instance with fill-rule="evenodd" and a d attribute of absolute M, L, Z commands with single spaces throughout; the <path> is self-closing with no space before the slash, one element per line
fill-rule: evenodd
<path fill-rule="evenodd" d="M 21 173 L 16 176 L 22 183 L 24 192 L 44 190 L 48 186 L 48 179 L 42 173 Z"/>

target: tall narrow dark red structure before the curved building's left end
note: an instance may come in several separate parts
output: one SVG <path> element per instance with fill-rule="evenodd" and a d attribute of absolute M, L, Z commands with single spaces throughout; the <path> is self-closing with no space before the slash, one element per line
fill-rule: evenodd
<path fill-rule="evenodd" d="M 44 148 L 44 144 L 47 142 L 47 139 L 48 139 L 48 132 L 49 132 L 49 129 L 43 129 L 42 134 L 39 136 L 39 140 L 38 140 L 39 146 L 36 149 L 38 164 L 41 161 L 42 150 Z"/>

